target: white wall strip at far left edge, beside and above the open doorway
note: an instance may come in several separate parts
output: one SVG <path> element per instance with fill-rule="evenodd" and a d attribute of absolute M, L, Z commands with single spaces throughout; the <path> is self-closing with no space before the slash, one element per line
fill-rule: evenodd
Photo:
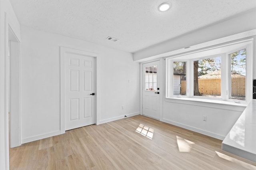
<path fill-rule="evenodd" d="M 0 0 L 0 169 L 9 169 L 8 95 L 6 94 L 6 56 L 8 27 L 20 40 L 20 24 L 8 0 Z"/>

